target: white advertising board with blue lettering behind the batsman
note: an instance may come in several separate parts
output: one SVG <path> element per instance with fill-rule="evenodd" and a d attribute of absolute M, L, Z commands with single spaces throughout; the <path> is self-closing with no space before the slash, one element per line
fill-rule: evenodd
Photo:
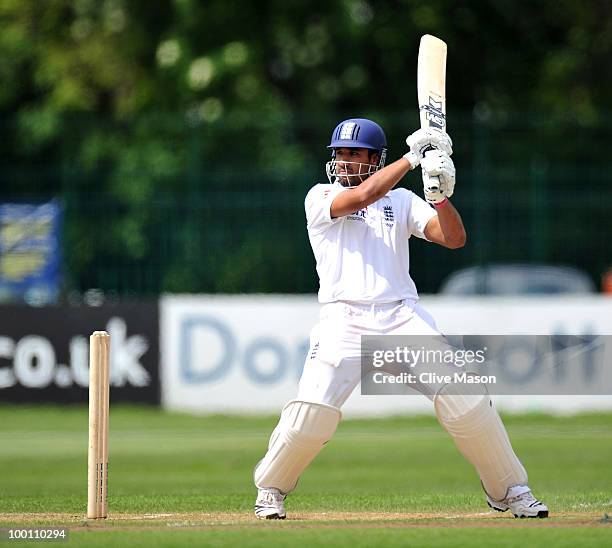
<path fill-rule="evenodd" d="M 612 299 L 593 297 L 421 299 L 449 334 L 611 334 Z M 315 296 L 168 295 L 161 300 L 162 404 L 197 413 L 280 411 L 295 397 L 317 322 Z M 431 413 L 415 396 L 349 398 L 346 416 Z M 512 411 L 610 409 L 610 396 L 496 396 Z"/>

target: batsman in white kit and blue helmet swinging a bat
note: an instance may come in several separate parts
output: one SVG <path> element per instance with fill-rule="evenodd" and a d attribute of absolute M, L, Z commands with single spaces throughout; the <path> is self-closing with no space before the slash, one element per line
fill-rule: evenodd
<path fill-rule="evenodd" d="M 409 152 L 385 166 L 382 128 L 363 118 L 341 122 L 328 146 L 330 184 L 317 184 L 306 196 L 322 307 L 297 397 L 283 408 L 255 467 L 259 518 L 286 517 L 285 497 L 334 435 L 340 408 L 360 381 L 361 335 L 440 334 L 418 304 L 408 240 L 416 236 L 449 249 L 465 244 L 461 217 L 449 200 L 455 187 L 452 142 L 437 129 L 420 129 L 406 142 Z M 419 165 L 425 200 L 394 189 Z M 433 402 L 438 421 L 476 469 L 491 508 L 521 518 L 548 517 L 484 385 L 470 395 L 452 393 L 444 384 L 415 388 Z"/>

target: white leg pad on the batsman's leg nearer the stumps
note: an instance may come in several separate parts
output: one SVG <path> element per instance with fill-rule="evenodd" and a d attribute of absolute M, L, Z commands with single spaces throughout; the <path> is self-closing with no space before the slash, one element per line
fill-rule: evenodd
<path fill-rule="evenodd" d="M 322 403 L 290 401 L 272 432 L 268 452 L 255 467 L 255 485 L 292 491 L 306 467 L 334 435 L 342 413 Z"/>

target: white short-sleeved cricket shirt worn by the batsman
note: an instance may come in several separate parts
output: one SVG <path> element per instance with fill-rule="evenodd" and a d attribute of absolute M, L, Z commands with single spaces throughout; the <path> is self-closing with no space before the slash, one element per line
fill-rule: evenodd
<path fill-rule="evenodd" d="M 435 210 L 413 192 L 397 188 L 364 209 L 332 219 L 330 207 L 340 192 L 352 191 L 339 183 L 317 184 L 304 203 L 319 302 L 417 301 L 408 239 L 425 239 L 425 225 Z"/>

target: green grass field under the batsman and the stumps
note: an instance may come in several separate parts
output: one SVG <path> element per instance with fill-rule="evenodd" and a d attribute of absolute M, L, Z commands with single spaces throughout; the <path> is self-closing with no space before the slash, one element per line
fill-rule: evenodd
<path fill-rule="evenodd" d="M 111 517 L 93 523 L 83 517 L 86 409 L 0 406 L 0 527 L 64 524 L 71 545 L 87 546 L 612 545 L 602 521 L 612 514 L 612 414 L 506 418 L 547 521 L 479 516 L 476 474 L 431 417 L 343 422 L 288 498 L 294 519 L 256 521 L 252 469 L 275 422 L 113 408 Z"/>

